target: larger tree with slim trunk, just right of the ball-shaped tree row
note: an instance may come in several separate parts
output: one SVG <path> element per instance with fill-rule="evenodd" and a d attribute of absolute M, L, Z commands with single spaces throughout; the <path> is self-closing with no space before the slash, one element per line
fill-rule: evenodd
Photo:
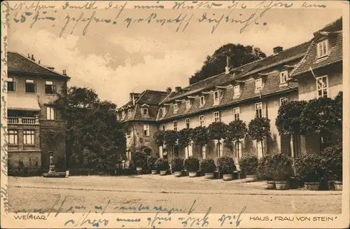
<path fill-rule="evenodd" d="M 294 155 L 297 155 L 296 134 L 300 133 L 300 116 L 302 110 L 307 105 L 306 101 L 290 101 L 279 107 L 279 112 L 276 118 L 276 127 L 279 134 L 290 134 L 293 138 Z"/>

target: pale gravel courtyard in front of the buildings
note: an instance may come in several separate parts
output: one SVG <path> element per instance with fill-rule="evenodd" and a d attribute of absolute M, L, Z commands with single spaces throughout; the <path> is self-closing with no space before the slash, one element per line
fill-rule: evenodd
<path fill-rule="evenodd" d="M 71 176 L 64 179 L 9 177 L 11 211 L 152 212 L 153 207 L 204 213 L 339 214 L 341 192 L 265 190 L 265 182 L 207 180 L 204 177 Z M 145 207 L 148 207 L 145 208 Z"/>

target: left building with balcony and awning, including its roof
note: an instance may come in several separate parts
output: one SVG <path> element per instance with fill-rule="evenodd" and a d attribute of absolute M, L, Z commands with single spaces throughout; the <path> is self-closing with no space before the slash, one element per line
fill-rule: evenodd
<path fill-rule="evenodd" d="M 8 53 L 8 164 L 11 172 L 48 171 L 49 151 L 64 171 L 65 129 L 53 102 L 69 76 L 36 62 L 34 56 Z"/>

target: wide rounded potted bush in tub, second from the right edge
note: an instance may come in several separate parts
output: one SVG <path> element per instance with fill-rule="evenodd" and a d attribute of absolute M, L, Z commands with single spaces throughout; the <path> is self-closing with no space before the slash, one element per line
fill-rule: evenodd
<path fill-rule="evenodd" d="M 316 154 L 302 154 L 295 158 L 295 173 L 304 181 L 304 188 L 307 190 L 318 190 L 321 178 L 323 177 L 322 158 Z"/>

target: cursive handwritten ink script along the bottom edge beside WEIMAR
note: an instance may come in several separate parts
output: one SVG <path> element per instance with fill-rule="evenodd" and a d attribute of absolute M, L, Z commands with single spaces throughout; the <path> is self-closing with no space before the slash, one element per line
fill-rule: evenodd
<path fill-rule="evenodd" d="M 94 206 L 92 209 L 87 209 L 86 206 L 79 205 L 79 206 L 69 206 L 67 207 L 66 197 L 63 198 L 59 195 L 57 199 L 55 200 L 54 204 L 52 204 L 52 207 L 49 209 L 19 209 L 17 211 L 14 211 L 15 214 L 18 214 L 14 216 L 16 220 L 30 220 L 30 219 L 36 219 L 36 220 L 47 220 L 48 217 L 57 217 L 62 212 L 67 212 L 71 214 L 76 214 L 77 211 L 81 212 L 83 211 L 83 214 L 78 218 L 69 218 L 64 222 L 64 225 L 74 225 L 74 226 L 86 226 L 91 225 L 92 227 L 99 227 L 100 225 L 108 225 L 111 221 L 111 219 L 107 219 L 104 217 L 104 214 L 106 211 L 111 212 L 110 210 L 120 210 L 123 212 L 150 212 L 150 216 L 148 216 L 145 219 L 138 218 L 138 217 L 118 217 L 118 214 L 116 214 L 115 221 L 122 223 L 122 227 L 125 227 L 126 224 L 130 223 L 146 223 L 145 225 L 148 225 L 151 228 L 155 227 L 162 227 L 162 223 L 166 222 L 176 222 L 181 223 L 183 227 L 195 227 L 195 228 L 203 228 L 207 227 L 210 224 L 209 216 L 211 216 L 211 207 L 209 207 L 205 214 L 197 214 L 196 213 L 196 200 L 193 201 L 192 204 L 190 204 L 190 207 L 188 209 L 182 209 L 182 208 L 176 208 L 176 207 L 165 207 L 165 206 L 149 206 L 146 204 L 139 204 L 137 206 L 116 206 L 113 207 L 113 203 L 111 203 L 111 200 L 109 200 L 106 204 L 103 204 L 101 206 Z M 244 213 L 246 210 L 246 207 L 241 209 L 239 214 L 231 214 L 231 215 L 225 215 L 222 214 L 218 218 L 214 218 L 214 221 L 218 221 L 223 226 L 228 225 L 235 225 L 239 226 L 241 223 L 241 214 Z M 31 213 L 30 213 L 31 212 Z M 55 214 L 52 214 L 52 212 L 55 212 Z M 20 213 L 27 213 L 27 215 L 20 215 Z M 41 216 L 34 216 L 32 213 L 38 213 L 42 214 Z M 100 217 L 91 217 L 91 213 L 96 213 Z M 151 214 L 153 213 L 153 214 Z M 196 214 L 195 214 L 196 213 Z M 180 217 L 177 214 L 181 214 Z M 211 218 L 213 220 L 213 218 Z M 143 222 L 145 221 L 145 222 Z"/>

